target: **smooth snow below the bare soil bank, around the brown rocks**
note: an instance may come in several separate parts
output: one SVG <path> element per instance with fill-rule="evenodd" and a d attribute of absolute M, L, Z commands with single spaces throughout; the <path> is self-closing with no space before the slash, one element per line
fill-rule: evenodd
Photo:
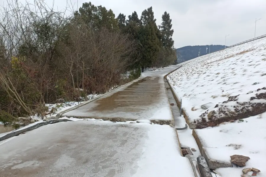
<path fill-rule="evenodd" d="M 266 113 L 244 121 L 220 124 L 218 127 L 196 130 L 209 158 L 230 163 L 231 155 L 248 156 L 243 168 L 218 168 L 222 176 L 241 176 L 244 168 L 257 168 L 257 176 L 266 176 Z"/>

